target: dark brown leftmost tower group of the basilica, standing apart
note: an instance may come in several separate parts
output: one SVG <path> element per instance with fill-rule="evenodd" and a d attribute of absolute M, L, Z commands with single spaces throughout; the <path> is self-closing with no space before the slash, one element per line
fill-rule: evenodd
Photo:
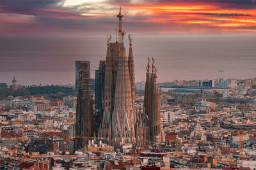
<path fill-rule="evenodd" d="M 89 61 L 81 62 L 78 82 L 75 141 L 76 149 L 86 146 L 88 139 L 92 137 L 93 100 L 90 87 Z"/>

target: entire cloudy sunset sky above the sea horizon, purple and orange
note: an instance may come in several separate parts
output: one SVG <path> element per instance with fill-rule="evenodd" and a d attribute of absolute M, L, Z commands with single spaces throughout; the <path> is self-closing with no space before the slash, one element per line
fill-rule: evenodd
<path fill-rule="evenodd" d="M 256 34 L 255 0 L 1 0 L 0 36 Z"/>

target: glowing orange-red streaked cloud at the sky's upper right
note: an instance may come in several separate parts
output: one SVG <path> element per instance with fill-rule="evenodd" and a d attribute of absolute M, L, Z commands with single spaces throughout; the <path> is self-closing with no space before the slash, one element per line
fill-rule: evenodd
<path fill-rule="evenodd" d="M 180 23 L 207 25 L 211 27 L 219 27 L 223 31 L 245 31 L 253 32 L 256 26 L 256 10 L 255 9 L 225 9 L 220 6 L 211 4 L 173 4 L 173 5 L 147 5 L 147 6 L 126 6 L 129 10 L 143 11 L 150 13 L 143 22 L 156 23 Z M 225 27 L 225 29 L 223 29 Z M 247 29 L 239 29 L 240 27 L 248 27 Z M 252 27 L 250 29 L 250 27 Z M 234 28 L 237 28 L 234 30 Z"/>

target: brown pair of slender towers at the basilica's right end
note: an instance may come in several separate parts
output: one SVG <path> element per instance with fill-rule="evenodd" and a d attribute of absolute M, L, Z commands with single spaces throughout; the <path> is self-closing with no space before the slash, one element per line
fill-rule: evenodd
<path fill-rule="evenodd" d="M 150 136 L 152 142 L 164 140 L 163 127 L 161 125 L 161 108 L 159 98 L 159 87 L 157 83 L 157 69 L 152 58 L 152 70 L 150 71 L 150 59 L 148 59 L 147 78 L 145 85 L 144 108 L 148 115 Z"/>

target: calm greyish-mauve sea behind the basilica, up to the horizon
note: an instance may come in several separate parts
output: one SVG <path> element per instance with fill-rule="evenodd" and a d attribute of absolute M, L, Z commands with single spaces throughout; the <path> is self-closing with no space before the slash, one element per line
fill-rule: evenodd
<path fill-rule="evenodd" d="M 133 36 L 136 82 L 145 81 L 147 57 L 156 59 L 158 81 L 254 78 L 256 37 Z M 129 45 L 125 38 L 128 55 Z M 106 38 L 0 38 L 0 82 L 10 85 L 67 85 L 75 61 L 90 60 L 91 76 L 106 58 Z M 223 72 L 220 72 L 223 70 Z"/>

